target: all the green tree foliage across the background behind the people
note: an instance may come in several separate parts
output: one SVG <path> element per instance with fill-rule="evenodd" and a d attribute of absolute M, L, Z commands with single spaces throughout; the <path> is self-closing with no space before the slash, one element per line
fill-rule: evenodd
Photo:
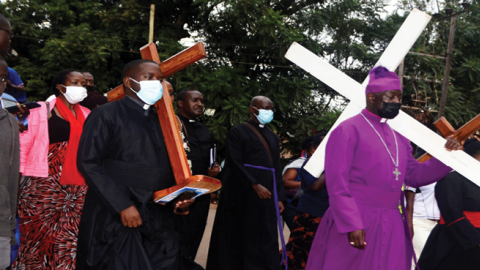
<path fill-rule="evenodd" d="M 411 7 L 387 17 L 387 0 L 7 0 L 0 12 L 16 34 L 10 57 L 26 82 L 28 98 L 42 100 L 63 69 L 90 71 L 105 93 L 120 84 L 123 65 L 140 58 L 147 43 L 150 4 L 156 5 L 154 40 L 160 59 L 183 50 L 179 41 L 191 35 L 203 41 L 208 57 L 168 78 L 176 92 L 195 88 L 204 94 L 213 115 L 204 122 L 223 146 L 228 129 L 249 118 L 250 99 L 270 97 L 277 112 L 270 127 L 282 149 L 299 153 L 303 138 L 326 131 L 342 103 L 337 93 L 285 59 L 292 42 L 324 57 L 357 81 L 363 81 Z M 428 1 L 427 1 L 428 2 Z M 478 8 L 459 19 L 447 117 L 463 123 L 479 112 Z M 407 12 L 403 12 L 407 11 Z M 401 15 L 399 15 L 401 14 Z M 412 49 L 444 54 L 447 23 L 430 23 Z M 409 55 L 405 73 L 441 80 L 441 59 Z M 436 100 L 441 85 L 406 81 L 405 102 L 421 89 Z M 428 89 L 427 89 L 428 88 Z M 431 109 L 437 108 L 432 102 Z M 337 107 L 337 108 L 336 108 Z"/>

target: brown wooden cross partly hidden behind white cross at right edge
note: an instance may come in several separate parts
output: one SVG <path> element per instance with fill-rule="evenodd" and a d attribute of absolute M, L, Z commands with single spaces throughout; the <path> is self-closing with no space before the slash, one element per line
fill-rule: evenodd
<path fill-rule="evenodd" d="M 448 136 L 453 136 L 454 139 L 459 141 L 461 144 L 465 142 L 470 135 L 475 133 L 475 131 L 480 129 L 480 114 L 477 115 L 475 118 L 470 120 L 468 123 L 463 125 L 461 128 L 459 128 L 457 131 L 448 123 L 447 119 L 445 117 L 441 117 L 433 125 L 438 129 L 440 134 L 442 134 L 443 137 L 448 137 Z M 423 156 L 418 158 L 418 161 L 420 162 L 425 162 L 429 160 L 432 156 L 430 154 L 424 154 Z"/>

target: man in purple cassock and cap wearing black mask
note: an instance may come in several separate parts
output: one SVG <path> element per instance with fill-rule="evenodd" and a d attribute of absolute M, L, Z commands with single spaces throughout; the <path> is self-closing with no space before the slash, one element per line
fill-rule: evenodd
<path fill-rule="evenodd" d="M 425 186 L 451 171 L 435 158 L 419 163 L 410 142 L 388 125 L 402 100 L 395 73 L 384 67 L 371 70 L 366 95 L 367 107 L 341 123 L 328 140 L 330 208 L 315 235 L 307 270 L 411 269 L 412 240 L 398 208 L 402 185 Z M 449 138 L 445 148 L 462 146 Z"/>

